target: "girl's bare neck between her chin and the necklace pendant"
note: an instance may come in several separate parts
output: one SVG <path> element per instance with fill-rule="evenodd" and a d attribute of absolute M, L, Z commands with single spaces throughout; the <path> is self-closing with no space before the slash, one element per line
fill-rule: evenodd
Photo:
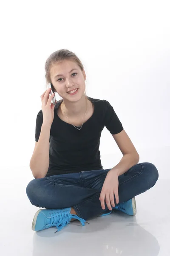
<path fill-rule="evenodd" d="M 69 117 L 75 117 L 75 116 L 81 116 L 85 114 L 87 104 L 88 104 L 88 99 L 84 95 L 77 102 L 70 102 L 68 100 L 63 100 L 62 108 L 64 107 L 64 111 L 66 115 L 68 115 Z"/>

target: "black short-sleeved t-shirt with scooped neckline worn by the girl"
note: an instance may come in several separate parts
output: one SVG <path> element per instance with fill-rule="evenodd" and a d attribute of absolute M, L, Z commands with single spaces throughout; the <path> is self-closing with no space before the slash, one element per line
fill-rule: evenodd
<path fill-rule="evenodd" d="M 94 113 L 80 130 L 59 118 L 57 109 L 63 100 L 56 103 L 50 130 L 49 167 L 45 177 L 103 169 L 99 151 L 102 130 L 106 126 L 111 134 L 118 134 L 123 126 L 107 100 L 88 99 L 94 104 Z M 42 122 L 41 109 L 36 119 L 35 141 L 39 139 Z"/>

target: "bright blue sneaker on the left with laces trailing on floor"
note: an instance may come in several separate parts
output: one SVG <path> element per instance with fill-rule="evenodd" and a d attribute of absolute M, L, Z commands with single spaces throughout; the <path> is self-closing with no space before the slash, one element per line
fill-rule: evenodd
<path fill-rule="evenodd" d="M 75 214 L 71 214 L 70 211 L 71 207 L 64 209 L 40 209 L 34 216 L 32 230 L 40 231 L 49 227 L 57 227 L 57 231 L 60 231 L 70 223 L 72 218 L 79 220 L 82 226 L 85 226 L 87 221 Z"/>

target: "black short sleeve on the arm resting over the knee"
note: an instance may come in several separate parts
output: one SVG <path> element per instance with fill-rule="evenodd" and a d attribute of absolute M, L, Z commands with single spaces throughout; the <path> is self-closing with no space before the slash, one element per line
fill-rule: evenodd
<path fill-rule="evenodd" d="M 120 122 L 111 104 L 107 100 L 103 101 L 105 102 L 104 125 L 111 134 L 118 134 L 123 130 L 122 123 Z"/>

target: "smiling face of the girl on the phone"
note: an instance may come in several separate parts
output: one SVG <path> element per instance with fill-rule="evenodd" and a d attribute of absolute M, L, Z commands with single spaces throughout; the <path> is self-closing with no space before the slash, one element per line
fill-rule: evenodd
<path fill-rule="evenodd" d="M 74 61 L 61 61 L 53 64 L 50 70 L 51 82 L 62 99 L 77 101 L 85 92 L 85 71 Z M 78 89 L 76 93 L 68 92 Z"/>

